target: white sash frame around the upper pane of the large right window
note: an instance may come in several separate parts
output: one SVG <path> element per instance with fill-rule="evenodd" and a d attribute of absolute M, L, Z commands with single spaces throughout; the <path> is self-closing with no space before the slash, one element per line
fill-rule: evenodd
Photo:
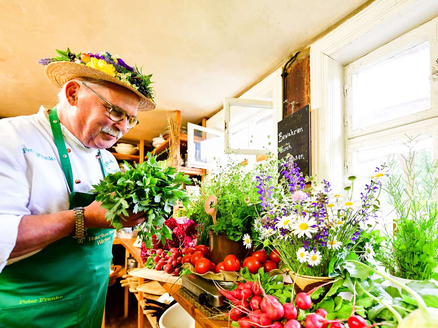
<path fill-rule="evenodd" d="M 430 107 L 421 112 L 402 116 L 390 121 L 381 122 L 372 126 L 355 129 L 353 111 L 357 100 L 357 73 L 366 70 L 370 66 L 377 65 L 393 56 L 396 56 L 408 49 L 411 49 L 425 41 L 430 47 L 430 67 L 438 58 L 438 47 L 436 46 L 438 17 L 428 21 L 414 30 L 396 38 L 395 40 L 381 46 L 380 48 L 357 59 L 345 66 L 345 109 L 346 109 L 346 138 L 352 139 L 357 136 L 364 136 L 370 133 L 383 131 L 396 126 L 402 126 L 412 122 L 418 122 L 438 115 L 438 84 L 431 83 L 431 104 Z"/>

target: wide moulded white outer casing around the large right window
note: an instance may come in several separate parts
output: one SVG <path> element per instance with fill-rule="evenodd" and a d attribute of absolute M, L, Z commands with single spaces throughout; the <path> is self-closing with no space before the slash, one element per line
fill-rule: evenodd
<path fill-rule="evenodd" d="M 312 174 L 342 181 L 344 66 L 437 16 L 436 0 L 376 0 L 311 45 Z"/>

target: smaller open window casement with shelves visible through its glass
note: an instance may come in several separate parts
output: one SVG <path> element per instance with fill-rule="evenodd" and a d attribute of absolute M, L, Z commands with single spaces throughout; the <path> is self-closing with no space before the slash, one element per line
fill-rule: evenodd
<path fill-rule="evenodd" d="M 187 164 L 190 167 L 214 169 L 216 158 L 223 154 L 223 133 L 187 123 Z"/>

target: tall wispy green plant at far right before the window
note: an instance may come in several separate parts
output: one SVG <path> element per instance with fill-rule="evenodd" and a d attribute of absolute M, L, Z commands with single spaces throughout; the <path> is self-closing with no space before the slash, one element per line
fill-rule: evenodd
<path fill-rule="evenodd" d="M 404 158 L 404 170 L 396 172 L 396 161 L 389 160 L 392 174 L 384 185 L 396 211 L 395 230 L 392 224 L 385 230 L 388 244 L 376 259 L 393 276 L 413 280 L 428 280 L 438 265 L 438 205 L 434 192 L 438 185 L 438 161 L 415 170 L 417 153 L 413 138 L 408 143 L 409 157 Z M 424 161 L 424 159 L 423 159 Z M 376 252 L 377 253 L 377 252 Z"/>

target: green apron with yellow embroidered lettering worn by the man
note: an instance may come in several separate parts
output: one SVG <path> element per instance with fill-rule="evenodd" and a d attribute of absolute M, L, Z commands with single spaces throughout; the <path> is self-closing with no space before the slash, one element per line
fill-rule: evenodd
<path fill-rule="evenodd" d="M 88 206 L 95 197 L 74 192 L 56 107 L 49 113 L 49 120 L 71 191 L 70 209 Z M 99 162 L 105 176 L 100 156 Z M 0 327 L 101 327 L 113 233 L 113 229 L 88 228 L 85 239 L 67 236 L 6 265 L 0 273 Z"/>

